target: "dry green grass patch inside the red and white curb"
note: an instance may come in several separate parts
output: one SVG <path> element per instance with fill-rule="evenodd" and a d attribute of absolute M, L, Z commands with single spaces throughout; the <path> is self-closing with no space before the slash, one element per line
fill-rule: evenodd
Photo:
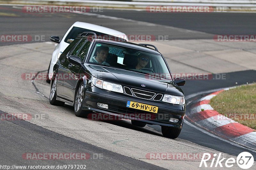
<path fill-rule="evenodd" d="M 256 84 L 221 92 L 211 99 L 210 105 L 220 114 L 256 129 Z"/>

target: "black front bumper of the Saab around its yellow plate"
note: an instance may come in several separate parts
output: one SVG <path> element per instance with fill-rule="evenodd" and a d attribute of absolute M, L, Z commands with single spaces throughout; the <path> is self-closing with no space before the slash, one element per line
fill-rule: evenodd
<path fill-rule="evenodd" d="M 92 110 L 97 113 L 104 113 L 114 116 L 134 117 L 132 120 L 139 120 L 147 124 L 154 124 L 160 126 L 171 126 L 175 128 L 182 128 L 183 119 L 185 116 L 185 105 L 172 105 L 162 101 L 143 100 L 136 97 L 131 97 L 121 93 L 107 92 L 106 90 L 92 87 L 92 91 L 86 91 L 84 97 L 83 109 Z M 127 101 L 135 101 L 148 105 L 158 107 L 157 113 L 150 113 L 143 110 L 126 107 Z M 97 103 L 104 103 L 108 105 L 108 109 L 100 108 Z M 148 114 L 145 118 L 145 114 Z M 143 115 L 143 116 L 141 116 Z M 170 118 L 179 119 L 179 122 L 169 122 Z"/>

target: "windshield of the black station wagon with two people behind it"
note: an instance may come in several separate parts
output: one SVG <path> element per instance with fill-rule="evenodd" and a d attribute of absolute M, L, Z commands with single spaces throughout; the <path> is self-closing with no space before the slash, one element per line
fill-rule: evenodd
<path fill-rule="evenodd" d="M 96 42 L 89 63 L 115 67 L 172 80 L 162 55 L 139 49 Z"/>

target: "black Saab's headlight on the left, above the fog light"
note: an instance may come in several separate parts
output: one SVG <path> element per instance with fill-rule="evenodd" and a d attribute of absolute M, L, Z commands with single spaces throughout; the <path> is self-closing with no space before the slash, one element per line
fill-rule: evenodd
<path fill-rule="evenodd" d="M 103 80 L 100 80 L 99 78 L 93 77 L 92 84 L 101 89 L 109 90 L 112 92 L 124 93 L 122 85 L 103 81 Z"/>

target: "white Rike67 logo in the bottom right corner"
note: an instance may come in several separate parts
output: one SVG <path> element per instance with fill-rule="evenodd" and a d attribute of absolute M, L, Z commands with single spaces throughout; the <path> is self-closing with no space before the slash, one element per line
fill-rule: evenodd
<path fill-rule="evenodd" d="M 211 161 L 211 165 L 209 167 L 223 167 L 222 164 L 225 164 L 226 167 L 230 168 L 232 166 L 234 166 L 235 163 L 237 163 L 237 165 L 242 168 L 242 169 L 248 169 L 250 167 L 252 167 L 253 163 L 254 163 L 254 159 L 251 153 L 249 152 L 242 152 L 240 153 L 236 160 L 235 158 L 228 158 L 227 160 L 225 160 L 226 158 L 222 158 L 221 159 L 221 153 L 219 153 L 218 157 L 217 154 L 213 154 L 213 158 L 211 158 L 212 154 L 210 153 L 204 153 L 200 165 L 199 167 L 202 167 L 202 165 L 204 164 L 205 167 L 207 166 L 206 161 L 212 159 Z M 216 162 L 215 162 L 216 160 Z M 208 162 L 209 163 L 209 162 Z"/>

